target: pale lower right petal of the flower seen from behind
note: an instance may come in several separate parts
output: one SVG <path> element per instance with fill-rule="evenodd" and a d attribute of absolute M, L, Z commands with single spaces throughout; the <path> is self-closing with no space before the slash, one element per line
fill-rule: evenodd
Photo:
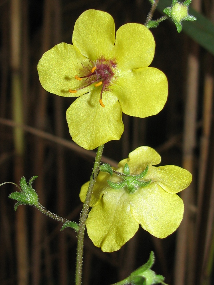
<path fill-rule="evenodd" d="M 131 212 L 142 228 L 158 238 L 173 233 L 183 219 L 183 201 L 152 183 L 140 188 L 130 198 Z"/>

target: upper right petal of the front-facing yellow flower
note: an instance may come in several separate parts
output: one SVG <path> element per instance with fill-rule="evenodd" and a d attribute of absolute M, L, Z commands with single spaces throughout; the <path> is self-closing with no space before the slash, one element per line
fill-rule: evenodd
<path fill-rule="evenodd" d="M 114 55 L 119 69 L 147 67 L 151 64 L 154 53 L 154 37 L 144 25 L 128 23 L 117 30 Z"/>

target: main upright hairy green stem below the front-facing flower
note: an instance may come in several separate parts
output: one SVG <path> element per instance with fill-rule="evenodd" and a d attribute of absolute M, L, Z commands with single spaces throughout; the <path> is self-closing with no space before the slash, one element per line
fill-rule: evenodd
<path fill-rule="evenodd" d="M 81 285 L 82 283 L 82 257 L 83 257 L 83 242 L 84 242 L 84 231 L 85 231 L 85 222 L 88 217 L 88 210 L 92 195 L 92 190 L 96 182 L 96 178 L 100 168 L 100 162 L 102 158 L 104 144 L 98 146 L 94 168 L 90 177 L 88 191 L 86 194 L 85 202 L 82 207 L 82 213 L 80 216 L 79 231 L 77 234 L 77 255 L 76 255 L 76 285 Z"/>

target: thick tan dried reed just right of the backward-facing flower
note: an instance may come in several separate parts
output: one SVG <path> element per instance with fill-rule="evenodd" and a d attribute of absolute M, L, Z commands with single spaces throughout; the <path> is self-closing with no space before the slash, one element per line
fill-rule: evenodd
<path fill-rule="evenodd" d="M 194 54 L 188 57 L 187 101 L 185 105 L 185 121 L 183 134 L 183 168 L 189 170 L 194 176 L 194 148 L 196 145 L 197 130 L 197 93 L 199 61 L 197 57 L 198 46 L 192 43 Z M 181 192 L 184 202 L 184 217 L 177 233 L 176 259 L 175 259 L 175 285 L 193 285 L 193 256 L 194 256 L 194 230 L 190 219 L 189 205 L 193 203 L 193 184 Z M 190 257 L 190 258 L 188 258 Z M 188 262 L 187 262 L 188 261 Z M 188 281 L 187 281 L 188 279 Z"/>

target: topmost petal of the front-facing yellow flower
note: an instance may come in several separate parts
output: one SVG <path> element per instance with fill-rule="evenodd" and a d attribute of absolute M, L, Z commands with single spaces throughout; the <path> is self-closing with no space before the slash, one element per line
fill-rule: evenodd
<path fill-rule="evenodd" d="M 74 25 L 72 42 L 92 61 L 101 55 L 109 58 L 115 42 L 114 19 L 104 11 L 91 9 L 83 12 Z"/>

